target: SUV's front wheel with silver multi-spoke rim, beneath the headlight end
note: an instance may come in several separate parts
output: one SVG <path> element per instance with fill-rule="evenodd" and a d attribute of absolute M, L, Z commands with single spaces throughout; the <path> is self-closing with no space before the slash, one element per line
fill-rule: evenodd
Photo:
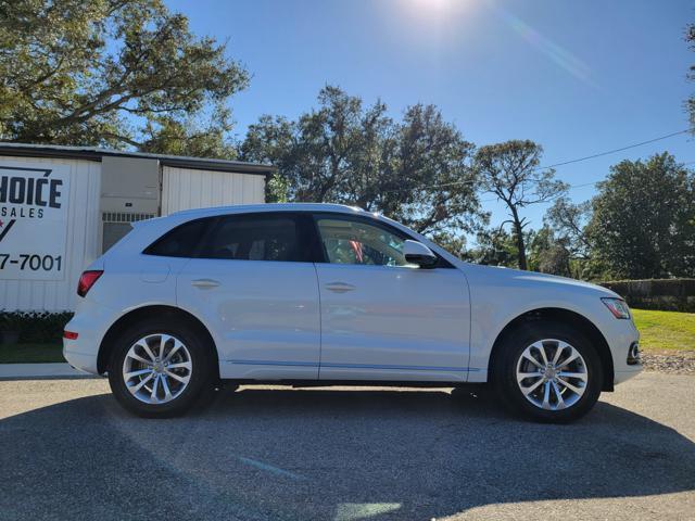
<path fill-rule="evenodd" d="M 517 416 L 565 423 L 589 412 L 601 395 L 601 358 L 586 335 L 569 325 L 525 322 L 505 334 L 495 353 L 496 394 Z"/>

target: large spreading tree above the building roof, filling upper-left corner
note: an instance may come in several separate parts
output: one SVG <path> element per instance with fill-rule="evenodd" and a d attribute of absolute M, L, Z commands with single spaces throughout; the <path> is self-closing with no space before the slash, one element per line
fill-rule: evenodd
<path fill-rule="evenodd" d="M 217 109 L 248 81 L 161 0 L 3 1 L 0 77 L 2 140 L 214 155 L 229 153 Z"/>

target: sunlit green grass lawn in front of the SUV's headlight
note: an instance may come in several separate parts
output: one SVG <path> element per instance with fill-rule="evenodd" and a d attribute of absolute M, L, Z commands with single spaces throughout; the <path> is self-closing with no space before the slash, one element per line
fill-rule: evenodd
<path fill-rule="evenodd" d="M 695 313 L 632 309 L 632 315 L 642 350 L 695 351 Z"/>

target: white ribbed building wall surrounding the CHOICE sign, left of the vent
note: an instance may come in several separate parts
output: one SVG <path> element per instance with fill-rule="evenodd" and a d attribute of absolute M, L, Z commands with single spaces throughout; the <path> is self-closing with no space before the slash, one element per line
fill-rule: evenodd
<path fill-rule="evenodd" d="M 77 280 L 83 269 L 100 254 L 99 196 L 101 163 L 84 160 L 0 156 L 0 164 L 31 163 L 67 165 L 70 198 L 65 277 L 63 280 L 0 280 L 0 309 L 74 309 Z M 27 237 L 27 245 L 33 238 Z"/>

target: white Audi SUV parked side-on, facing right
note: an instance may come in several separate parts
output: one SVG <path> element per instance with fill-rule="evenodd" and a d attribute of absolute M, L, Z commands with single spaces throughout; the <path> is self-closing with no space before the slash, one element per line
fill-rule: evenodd
<path fill-rule="evenodd" d="M 459 386 L 568 421 L 641 370 L 617 294 L 467 264 L 383 216 L 328 204 L 179 212 L 83 274 L 63 354 L 144 417 L 213 386 Z"/>

